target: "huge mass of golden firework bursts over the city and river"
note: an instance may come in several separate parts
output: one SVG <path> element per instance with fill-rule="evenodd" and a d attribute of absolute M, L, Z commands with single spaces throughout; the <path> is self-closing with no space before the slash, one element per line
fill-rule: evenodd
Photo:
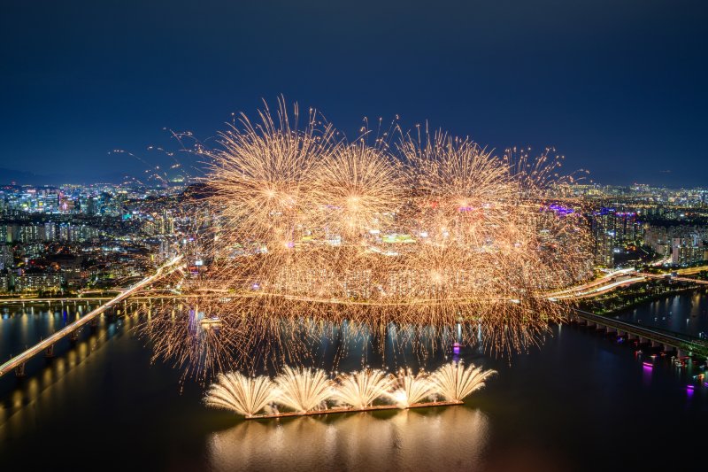
<path fill-rule="evenodd" d="M 347 142 L 318 112 L 302 119 L 281 101 L 200 149 L 208 271 L 189 290 L 197 318 L 218 317 L 204 352 L 227 358 L 208 367 L 302 361 L 342 333 L 382 350 L 395 327 L 420 352 L 459 342 L 508 353 L 562 321 L 566 306 L 548 294 L 588 275 L 589 246 L 578 213 L 552 210 L 550 190 L 573 177 L 550 150 L 497 157 L 421 127 Z M 189 331 L 173 316 L 146 325 L 158 352 L 200 359 L 190 337 L 166 334 L 170 323 Z"/>

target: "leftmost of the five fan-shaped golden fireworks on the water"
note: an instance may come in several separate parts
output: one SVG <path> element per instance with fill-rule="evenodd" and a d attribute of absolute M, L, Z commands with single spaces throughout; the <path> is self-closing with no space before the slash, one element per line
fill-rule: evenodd
<path fill-rule="evenodd" d="M 277 396 L 273 382 L 266 376 L 247 377 L 238 372 L 219 374 L 204 402 L 207 406 L 232 410 L 250 417 L 266 407 Z"/>

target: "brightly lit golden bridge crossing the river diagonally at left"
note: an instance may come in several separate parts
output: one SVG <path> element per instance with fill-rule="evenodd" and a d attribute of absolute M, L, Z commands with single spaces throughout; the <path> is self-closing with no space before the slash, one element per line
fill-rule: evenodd
<path fill-rule="evenodd" d="M 127 290 L 121 291 L 118 296 L 111 298 L 110 301 L 104 305 L 97 307 L 89 313 L 86 313 L 79 320 L 73 321 L 73 323 L 66 325 L 63 329 L 59 329 L 50 337 L 42 339 L 41 342 L 27 349 L 27 351 L 20 353 L 18 356 L 13 357 L 11 360 L 8 360 L 4 364 L 0 365 L 0 377 L 12 371 L 14 371 L 17 375 L 24 375 L 24 368 L 27 360 L 32 359 L 40 352 L 50 352 L 57 341 L 76 333 L 78 329 L 94 320 L 99 314 L 104 313 L 106 310 L 112 308 L 112 306 L 118 305 L 121 301 L 130 297 L 136 291 L 141 290 L 146 285 L 149 285 L 165 275 L 172 274 L 175 270 L 180 269 L 181 265 L 179 265 L 179 263 L 181 262 L 181 259 L 182 257 L 178 256 L 166 262 L 163 266 L 158 268 L 155 274 L 145 277 L 142 281 L 135 283 L 135 285 L 129 287 Z"/>

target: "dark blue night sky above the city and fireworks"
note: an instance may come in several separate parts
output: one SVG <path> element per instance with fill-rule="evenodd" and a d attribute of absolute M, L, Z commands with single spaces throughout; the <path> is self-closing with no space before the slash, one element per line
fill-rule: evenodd
<path fill-rule="evenodd" d="M 279 94 L 343 130 L 428 120 L 555 146 L 597 182 L 708 186 L 708 2 L 32 1 L 0 7 L 0 167 L 142 174 L 109 156 L 206 138 Z M 4 180 L 4 179 L 0 179 Z"/>

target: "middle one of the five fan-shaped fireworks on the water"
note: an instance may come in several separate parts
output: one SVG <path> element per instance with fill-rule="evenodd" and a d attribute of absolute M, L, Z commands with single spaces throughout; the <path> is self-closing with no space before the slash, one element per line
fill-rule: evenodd
<path fill-rule="evenodd" d="M 364 369 L 342 375 L 332 393 L 332 399 L 354 408 L 371 406 L 377 398 L 388 395 L 394 381 L 381 370 Z"/>

